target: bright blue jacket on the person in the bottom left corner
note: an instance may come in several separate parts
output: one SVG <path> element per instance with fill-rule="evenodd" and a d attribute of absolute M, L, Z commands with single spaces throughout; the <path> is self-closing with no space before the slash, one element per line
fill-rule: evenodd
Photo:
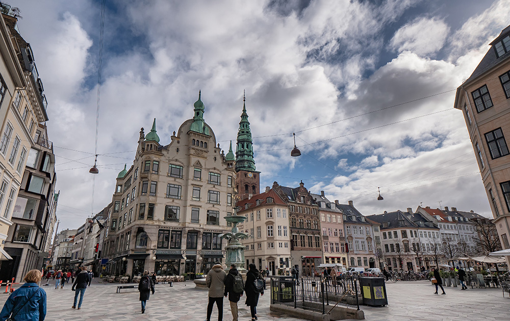
<path fill-rule="evenodd" d="M 5 321 L 11 313 L 15 313 L 15 321 L 43 321 L 46 317 L 46 292 L 37 283 L 21 285 L 5 302 L 0 320 Z"/>

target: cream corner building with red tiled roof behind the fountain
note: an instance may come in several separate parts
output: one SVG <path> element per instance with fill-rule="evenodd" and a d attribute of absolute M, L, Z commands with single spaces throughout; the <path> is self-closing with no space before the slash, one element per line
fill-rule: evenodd
<path fill-rule="evenodd" d="M 246 221 L 239 230 L 248 234 L 243 245 L 247 268 L 253 263 L 260 269 L 269 269 L 271 275 L 290 271 L 290 227 L 287 203 L 273 190 L 253 195 L 237 202 L 237 215 Z"/>

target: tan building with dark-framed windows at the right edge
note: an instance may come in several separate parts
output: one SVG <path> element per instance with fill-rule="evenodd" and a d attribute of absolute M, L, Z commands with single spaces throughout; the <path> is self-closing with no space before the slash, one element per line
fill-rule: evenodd
<path fill-rule="evenodd" d="M 457 88 L 461 110 L 503 249 L 510 248 L 510 25 Z M 506 138 L 505 138 L 506 137 Z M 510 263 L 510 262 L 509 262 Z"/>

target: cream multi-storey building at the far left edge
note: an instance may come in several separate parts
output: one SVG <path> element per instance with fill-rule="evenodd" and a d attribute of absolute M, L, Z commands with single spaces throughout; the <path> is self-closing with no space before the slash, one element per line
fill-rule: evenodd
<path fill-rule="evenodd" d="M 0 17 L 0 259 L 4 251 L 11 215 L 21 186 L 30 148 L 38 141 L 36 125 L 48 120 L 46 99 L 30 44 L 19 35 L 10 6 L 2 4 Z M 33 179 L 23 186 L 42 190 L 44 182 Z M 18 232 L 14 227 L 13 231 Z M 31 236 L 35 240 L 35 233 Z"/>

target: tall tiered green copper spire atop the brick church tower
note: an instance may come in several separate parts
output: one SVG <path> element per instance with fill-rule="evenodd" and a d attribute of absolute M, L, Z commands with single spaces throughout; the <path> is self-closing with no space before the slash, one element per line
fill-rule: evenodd
<path fill-rule="evenodd" d="M 236 171 L 254 171 L 253 143 L 251 141 L 250 122 L 246 113 L 246 96 L 243 96 L 243 113 L 237 133 Z"/>

